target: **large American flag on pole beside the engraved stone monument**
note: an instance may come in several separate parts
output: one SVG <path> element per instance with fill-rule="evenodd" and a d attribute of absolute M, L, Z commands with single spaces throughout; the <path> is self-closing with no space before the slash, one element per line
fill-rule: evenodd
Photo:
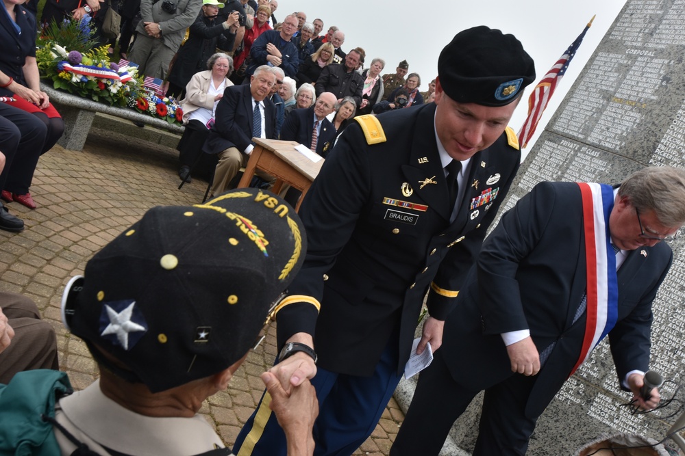
<path fill-rule="evenodd" d="M 573 59 L 575 52 L 580 47 L 580 43 L 582 43 L 583 38 L 585 38 L 585 33 L 590 28 L 590 25 L 593 25 L 594 20 L 595 16 L 590 19 L 590 22 L 585 26 L 583 33 L 580 33 L 578 38 L 575 38 L 575 41 L 571 43 L 569 49 L 566 49 L 560 59 L 557 60 L 556 64 L 547 72 L 547 75 L 543 77 L 542 81 L 535 86 L 533 93 L 530 94 L 530 97 L 528 98 L 528 117 L 525 118 L 521 131 L 519 131 L 521 148 L 525 148 L 525 146 L 528 145 L 530 138 L 533 136 L 533 133 L 535 133 L 538 122 L 540 122 L 540 118 L 543 116 L 543 112 L 554 93 L 554 89 L 556 89 L 557 84 L 564 76 L 566 68 L 569 68 L 571 59 Z"/>

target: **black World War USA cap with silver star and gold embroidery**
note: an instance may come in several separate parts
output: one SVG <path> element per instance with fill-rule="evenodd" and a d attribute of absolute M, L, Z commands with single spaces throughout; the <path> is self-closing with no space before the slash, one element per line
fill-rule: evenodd
<path fill-rule="evenodd" d="M 305 252 L 299 217 L 268 191 L 155 207 L 71 280 L 62 318 L 110 371 L 168 390 L 247 353 Z"/>

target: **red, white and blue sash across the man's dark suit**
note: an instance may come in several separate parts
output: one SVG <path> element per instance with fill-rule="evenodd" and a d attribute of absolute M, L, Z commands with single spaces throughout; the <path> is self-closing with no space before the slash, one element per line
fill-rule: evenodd
<path fill-rule="evenodd" d="M 588 306 L 585 336 L 571 375 L 612 330 L 619 315 L 616 254 L 611 245 L 609 214 L 614 206 L 610 185 L 578 183 L 583 201 Z"/>

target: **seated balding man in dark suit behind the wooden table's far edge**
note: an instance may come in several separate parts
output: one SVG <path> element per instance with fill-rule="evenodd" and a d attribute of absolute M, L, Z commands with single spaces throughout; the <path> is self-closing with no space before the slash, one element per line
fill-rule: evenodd
<path fill-rule="evenodd" d="M 306 109 L 295 109 L 283 124 L 281 139 L 297 141 L 326 157 L 336 139 L 336 129 L 326 118 L 333 112 L 336 96 L 331 92 L 324 92 L 316 99 L 314 106 Z"/>

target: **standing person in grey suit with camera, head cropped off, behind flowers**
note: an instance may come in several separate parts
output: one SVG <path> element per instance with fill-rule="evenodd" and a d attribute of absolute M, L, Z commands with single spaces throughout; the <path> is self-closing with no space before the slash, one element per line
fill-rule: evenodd
<path fill-rule="evenodd" d="M 145 76 L 166 79 L 169 64 L 178 51 L 186 29 L 197 18 L 202 0 L 140 1 L 142 20 L 129 60 Z"/>

